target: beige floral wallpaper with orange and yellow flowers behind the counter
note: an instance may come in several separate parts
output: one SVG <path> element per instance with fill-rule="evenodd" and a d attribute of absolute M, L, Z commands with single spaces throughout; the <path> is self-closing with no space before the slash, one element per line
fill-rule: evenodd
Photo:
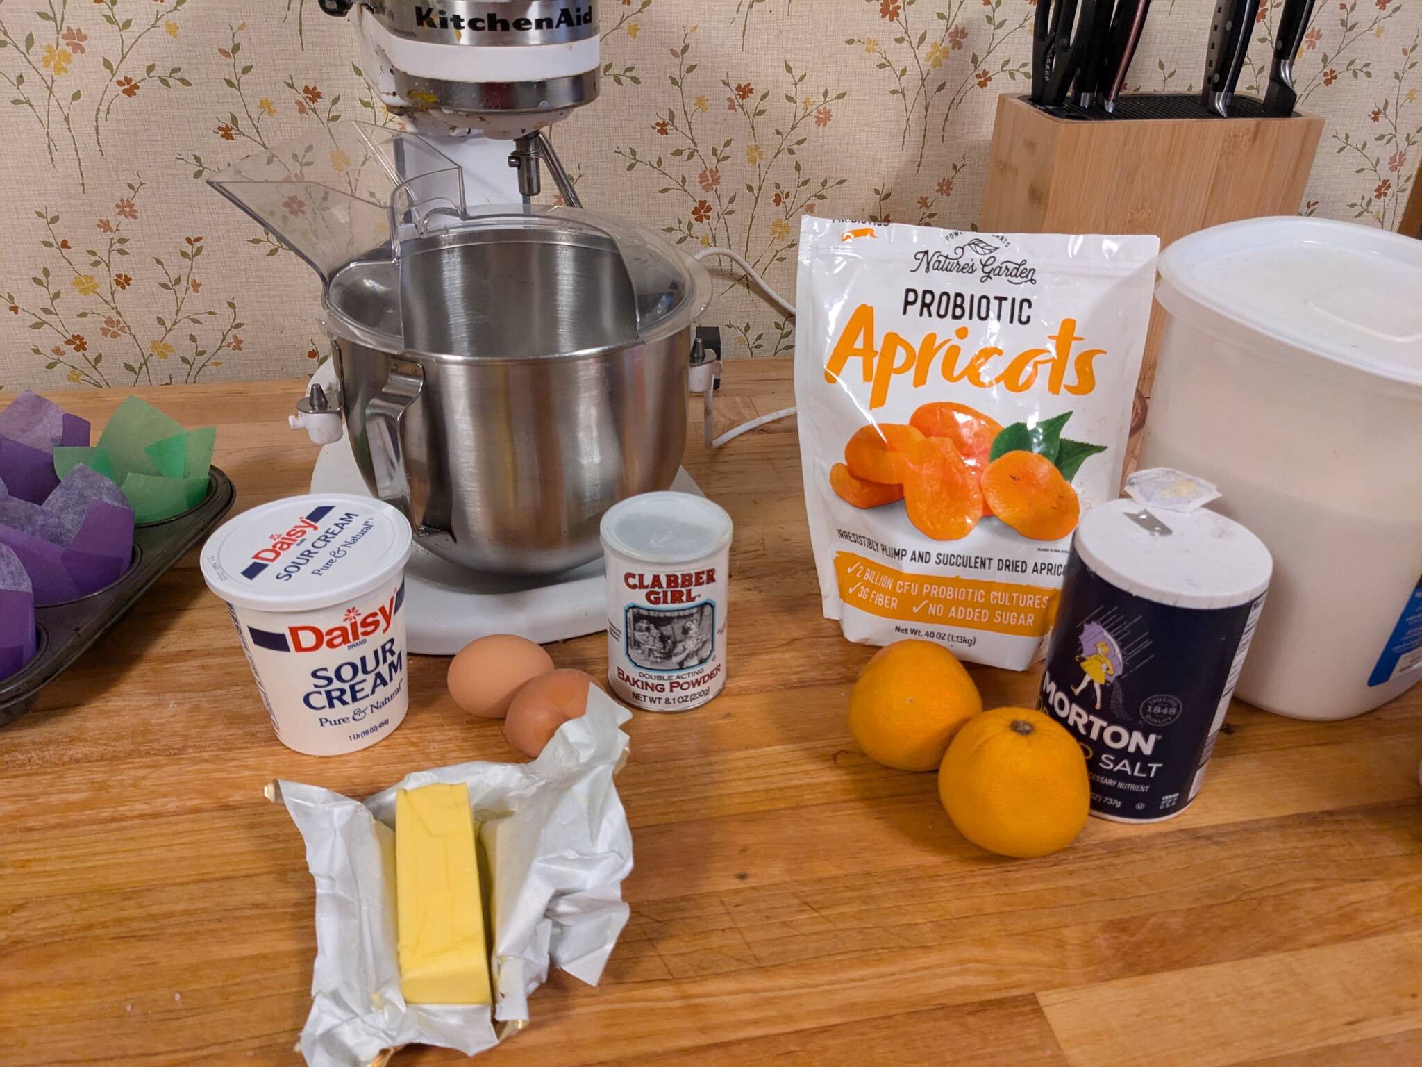
<path fill-rule="evenodd" d="M 1283 0 L 1241 91 L 1261 92 Z M 1130 88 L 1193 91 L 1209 0 L 1155 0 Z M 553 137 L 589 208 L 745 256 L 786 296 L 803 213 L 975 222 L 1031 0 L 600 0 L 602 98 Z M 1395 229 L 1422 138 L 1422 0 L 1320 0 L 1300 107 L 1327 120 L 1304 213 Z M 269 144 L 388 122 L 316 0 L 0 0 L 0 383 L 293 376 L 314 275 L 203 182 Z M 7 101 L 7 104 L 4 102 Z M 334 141 L 333 141 L 334 144 Z M 734 272 L 728 353 L 792 346 Z"/>

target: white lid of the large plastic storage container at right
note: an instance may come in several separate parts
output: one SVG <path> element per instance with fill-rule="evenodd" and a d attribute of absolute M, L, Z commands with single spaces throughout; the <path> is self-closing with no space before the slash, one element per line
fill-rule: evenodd
<path fill-rule="evenodd" d="M 1422 386 L 1422 242 L 1332 219 L 1246 219 L 1180 238 L 1159 269 L 1172 314 Z"/>

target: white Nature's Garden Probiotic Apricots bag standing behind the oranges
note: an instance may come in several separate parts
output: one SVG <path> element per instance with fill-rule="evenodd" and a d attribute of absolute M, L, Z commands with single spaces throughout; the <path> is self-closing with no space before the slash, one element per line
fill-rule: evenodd
<path fill-rule="evenodd" d="M 1037 657 L 1076 521 L 1119 491 L 1158 250 L 805 216 L 801 461 L 846 637 Z"/>

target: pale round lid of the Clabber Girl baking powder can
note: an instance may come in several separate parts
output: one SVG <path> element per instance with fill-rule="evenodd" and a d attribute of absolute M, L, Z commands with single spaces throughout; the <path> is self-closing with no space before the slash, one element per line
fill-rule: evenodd
<path fill-rule="evenodd" d="M 693 563 L 731 543 L 725 508 L 690 492 L 644 492 L 603 515 L 603 548 L 643 563 Z"/>

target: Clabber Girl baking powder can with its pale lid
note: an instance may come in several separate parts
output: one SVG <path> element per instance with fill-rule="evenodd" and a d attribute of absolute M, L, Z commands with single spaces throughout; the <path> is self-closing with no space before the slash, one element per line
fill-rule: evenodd
<path fill-rule="evenodd" d="M 725 686 L 731 516 L 704 497 L 647 492 L 603 516 L 607 680 L 627 704 L 690 711 Z"/>

